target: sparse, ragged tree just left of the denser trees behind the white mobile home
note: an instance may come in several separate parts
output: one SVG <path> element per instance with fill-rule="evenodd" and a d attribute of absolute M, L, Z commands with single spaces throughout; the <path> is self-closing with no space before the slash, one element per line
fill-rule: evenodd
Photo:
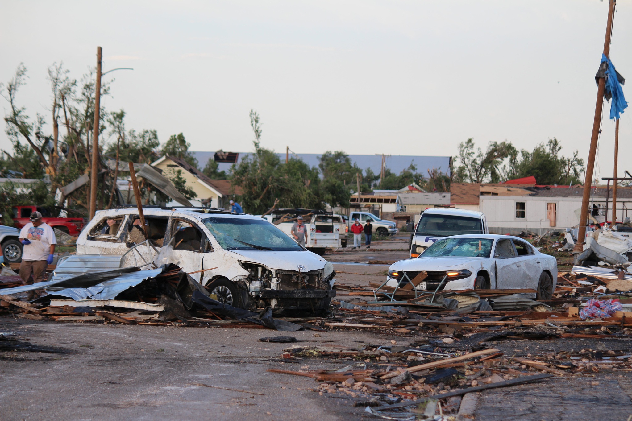
<path fill-rule="evenodd" d="M 474 139 L 467 139 L 459 143 L 459 167 L 456 169 L 453 179 L 455 182 L 500 182 L 502 176 L 502 163 L 505 158 L 513 157 L 517 153 L 516 148 L 510 142 L 490 142 L 487 150 L 481 148 L 475 150 Z"/>

